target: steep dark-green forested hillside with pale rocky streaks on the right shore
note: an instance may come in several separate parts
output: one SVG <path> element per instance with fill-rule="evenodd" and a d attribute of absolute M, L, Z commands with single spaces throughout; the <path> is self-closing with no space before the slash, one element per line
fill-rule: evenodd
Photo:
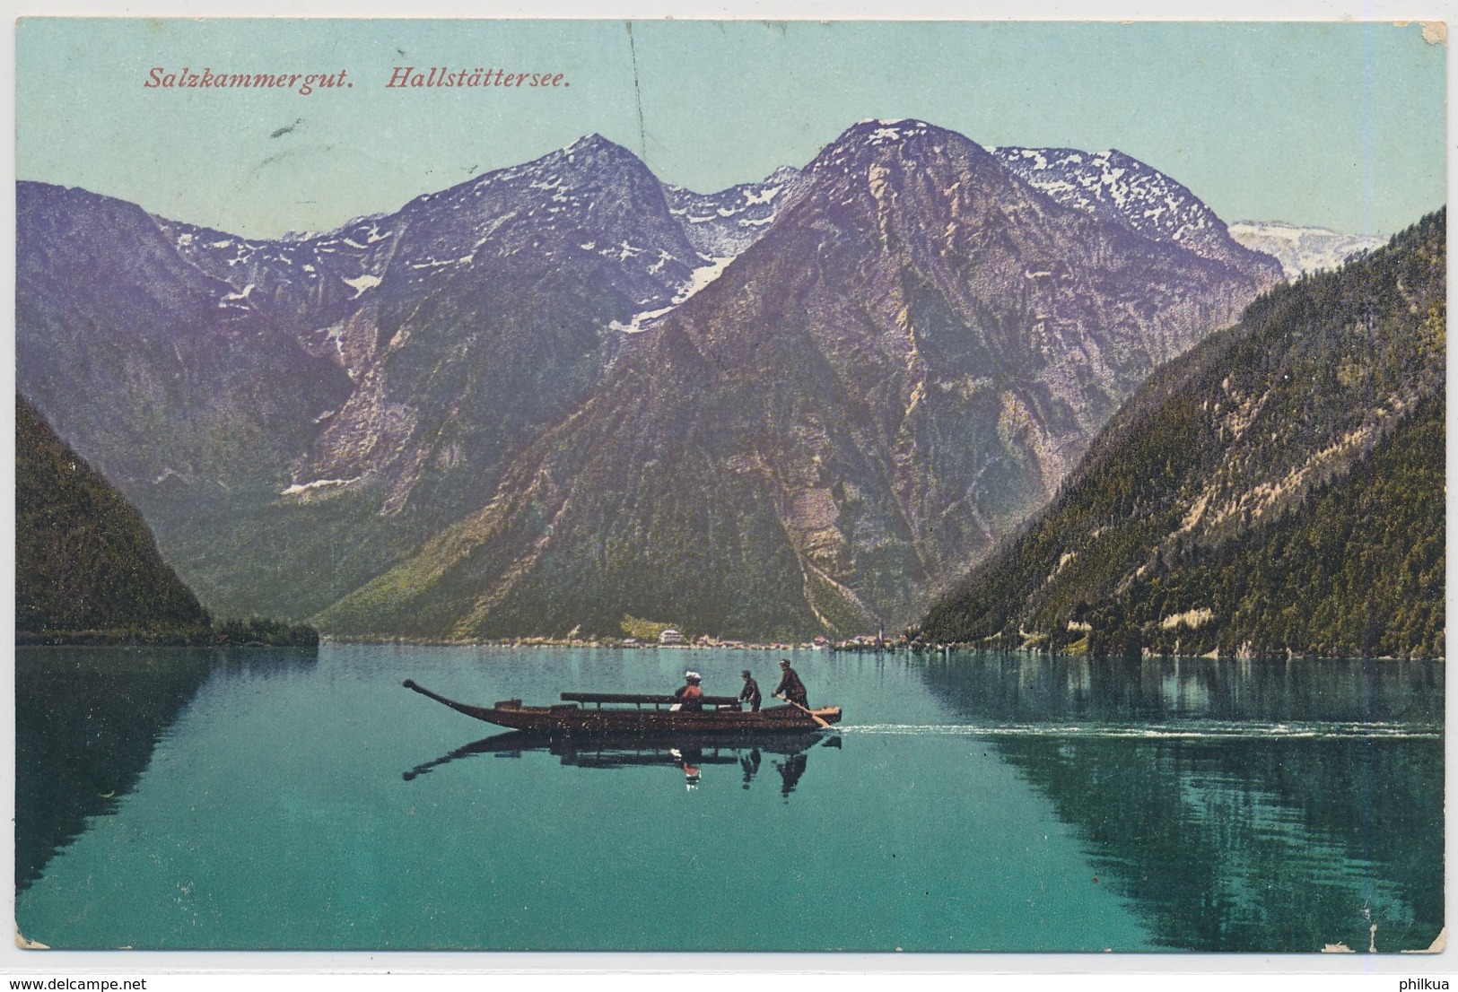
<path fill-rule="evenodd" d="M 1158 373 L 933 641 L 1443 654 L 1446 211 Z"/>

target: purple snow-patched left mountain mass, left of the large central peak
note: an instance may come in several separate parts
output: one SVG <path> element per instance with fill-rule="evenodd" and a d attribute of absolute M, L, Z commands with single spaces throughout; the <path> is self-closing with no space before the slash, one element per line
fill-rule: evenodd
<path fill-rule="evenodd" d="M 478 508 L 707 275 L 590 135 L 338 232 L 248 240 L 20 184 L 19 376 L 227 612 L 302 618 Z"/>

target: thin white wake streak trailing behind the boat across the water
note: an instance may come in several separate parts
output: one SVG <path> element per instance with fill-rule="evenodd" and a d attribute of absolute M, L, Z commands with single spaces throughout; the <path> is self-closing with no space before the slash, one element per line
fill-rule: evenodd
<path fill-rule="evenodd" d="M 851 724 L 840 734 L 900 737 L 1131 737 L 1139 740 L 1442 740 L 1441 724 L 1392 723 L 1178 723 L 1178 724 Z"/>

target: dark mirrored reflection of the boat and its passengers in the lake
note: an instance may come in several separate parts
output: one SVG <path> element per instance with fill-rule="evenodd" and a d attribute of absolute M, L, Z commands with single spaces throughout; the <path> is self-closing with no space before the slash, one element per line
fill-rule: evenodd
<path fill-rule="evenodd" d="M 456 747 L 433 762 L 416 765 L 402 778 L 408 782 L 442 765 L 477 755 L 522 757 L 528 752 L 547 752 L 573 768 L 675 768 L 688 788 L 695 788 L 714 769 L 738 768 L 741 787 L 749 788 L 760 773 L 765 756 L 780 773 L 780 795 L 790 792 L 805 775 L 806 753 L 816 746 L 840 749 L 838 736 L 815 733 L 787 734 L 593 734 L 553 736 L 529 730 L 513 730 Z"/>

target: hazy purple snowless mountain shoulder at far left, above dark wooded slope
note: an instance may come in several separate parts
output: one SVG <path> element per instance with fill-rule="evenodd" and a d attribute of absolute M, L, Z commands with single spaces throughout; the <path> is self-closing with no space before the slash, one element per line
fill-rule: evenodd
<path fill-rule="evenodd" d="M 144 511 L 175 485 L 271 485 L 348 396 L 337 363 L 235 306 L 140 207 L 20 184 L 17 211 L 17 380 Z"/>

